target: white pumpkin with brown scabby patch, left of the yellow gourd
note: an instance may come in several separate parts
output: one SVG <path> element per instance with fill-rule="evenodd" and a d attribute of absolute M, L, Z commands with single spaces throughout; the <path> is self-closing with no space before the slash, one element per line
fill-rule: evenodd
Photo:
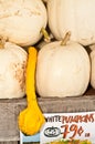
<path fill-rule="evenodd" d="M 27 52 L 11 42 L 0 49 L 0 99 L 25 95 Z"/>

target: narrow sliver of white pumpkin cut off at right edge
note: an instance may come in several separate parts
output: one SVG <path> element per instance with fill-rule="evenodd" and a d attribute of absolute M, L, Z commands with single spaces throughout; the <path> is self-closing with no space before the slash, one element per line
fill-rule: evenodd
<path fill-rule="evenodd" d="M 89 53 L 91 58 L 91 85 L 95 89 L 95 50 Z"/>

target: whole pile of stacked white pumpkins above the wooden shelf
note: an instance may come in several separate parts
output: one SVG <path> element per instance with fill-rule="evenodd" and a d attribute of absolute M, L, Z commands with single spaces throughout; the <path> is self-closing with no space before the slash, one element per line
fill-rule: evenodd
<path fill-rule="evenodd" d="M 50 42 L 42 42 L 43 28 L 52 35 Z M 95 0 L 1 0 L 0 99 L 25 95 L 24 49 L 31 45 L 40 47 L 40 96 L 77 96 L 89 84 L 95 89 L 94 44 Z"/>

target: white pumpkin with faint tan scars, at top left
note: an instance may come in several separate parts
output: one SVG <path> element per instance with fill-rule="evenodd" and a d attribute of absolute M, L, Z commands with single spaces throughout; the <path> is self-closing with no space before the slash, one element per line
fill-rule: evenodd
<path fill-rule="evenodd" d="M 42 0 L 1 0 L 0 35 L 21 47 L 35 44 L 48 23 Z"/>

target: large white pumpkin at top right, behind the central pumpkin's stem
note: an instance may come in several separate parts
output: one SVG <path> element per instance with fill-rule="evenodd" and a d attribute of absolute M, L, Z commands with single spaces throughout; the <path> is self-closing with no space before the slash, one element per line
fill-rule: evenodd
<path fill-rule="evenodd" d="M 48 0 L 48 16 L 57 40 L 71 31 L 71 40 L 83 45 L 95 43 L 95 0 Z"/>

